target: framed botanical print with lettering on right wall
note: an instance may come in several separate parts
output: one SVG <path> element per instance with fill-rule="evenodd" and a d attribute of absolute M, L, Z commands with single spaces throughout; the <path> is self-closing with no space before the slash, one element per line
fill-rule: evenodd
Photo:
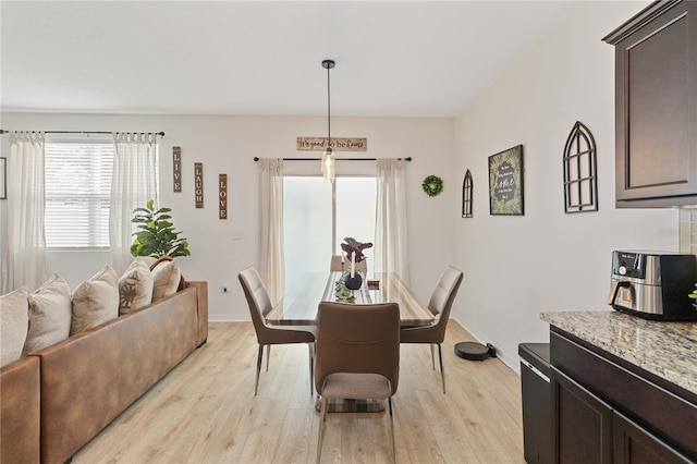
<path fill-rule="evenodd" d="M 489 213 L 524 213 L 523 145 L 489 157 Z"/>

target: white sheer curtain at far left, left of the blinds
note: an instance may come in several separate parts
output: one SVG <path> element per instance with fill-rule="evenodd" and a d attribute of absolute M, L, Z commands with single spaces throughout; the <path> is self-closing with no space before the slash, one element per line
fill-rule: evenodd
<path fill-rule="evenodd" d="M 46 280 L 44 210 L 45 137 L 42 132 L 12 132 L 8 159 L 8 249 L 3 293 Z"/>

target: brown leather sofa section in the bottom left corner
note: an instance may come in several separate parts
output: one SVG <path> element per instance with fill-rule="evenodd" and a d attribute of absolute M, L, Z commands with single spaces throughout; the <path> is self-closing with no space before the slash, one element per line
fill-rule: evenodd
<path fill-rule="evenodd" d="M 27 356 L 0 369 L 0 462 L 38 463 L 39 358 Z"/>

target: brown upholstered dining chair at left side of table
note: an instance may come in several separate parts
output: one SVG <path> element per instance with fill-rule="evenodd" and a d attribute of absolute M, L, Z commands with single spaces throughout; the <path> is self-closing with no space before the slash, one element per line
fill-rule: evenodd
<path fill-rule="evenodd" d="M 315 340 L 317 329 L 315 326 L 271 326 L 266 321 L 266 316 L 273 309 L 269 293 L 254 268 L 246 268 L 240 272 L 240 283 L 247 298 L 249 313 L 254 330 L 257 332 L 259 342 L 259 355 L 257 356 L 257 378 L 254 384 L 254 395 L 257 395 L 259 388 L 259 374 L 261 371 L 261 358 L 264 346 L 267 346 L 266 370 L 269 370 L 269 357 L 271 357 L 271 345 L 288 343 L 307 343 L 309 347 L 309 394 L 314 394 L 313 377 L 315 366 Z"/>

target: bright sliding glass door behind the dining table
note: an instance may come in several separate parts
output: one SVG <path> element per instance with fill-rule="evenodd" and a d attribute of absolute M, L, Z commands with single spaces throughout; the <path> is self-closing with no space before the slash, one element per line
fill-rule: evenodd
<path fill-rule="evenodd" d="M 344 237 L 374 242 L 375 202 L 375 176 L 338 176 L 333 184 L 318 176 L 284 176 L 285 288 L 306 272 L 328 271 Z M 372 249 L 365 254 L 370 272 Z"/>

